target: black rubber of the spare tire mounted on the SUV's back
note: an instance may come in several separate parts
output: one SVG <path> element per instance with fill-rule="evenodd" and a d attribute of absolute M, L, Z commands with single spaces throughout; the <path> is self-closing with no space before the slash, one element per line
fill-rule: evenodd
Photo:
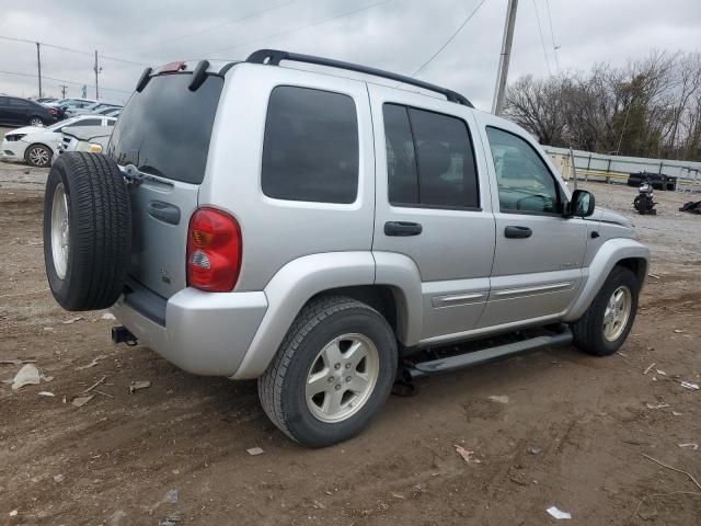
<path fill-rule="evenodd" d="M 57 272 L 51 247 L 53 203 L 59 185 L 68 209 L 64 272 Z M 129 195 L 117 164 L 100 153 L 61 155 L 48 174 L 44 198 L 44 261 L 56 301 L 67 310 L 112 306 L 124 288 L 130 247 Z"/>

